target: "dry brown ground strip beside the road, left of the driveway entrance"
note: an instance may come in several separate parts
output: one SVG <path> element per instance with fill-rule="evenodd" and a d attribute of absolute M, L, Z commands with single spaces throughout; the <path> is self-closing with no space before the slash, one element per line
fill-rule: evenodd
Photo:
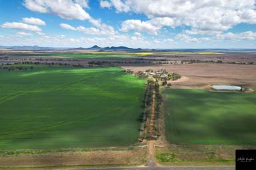
<path fill-rule="evenodd" d="M 147 148 L 123 150 L 67 151 L 60 153 L 19 154 L 0 156 L 1 167 L 61 167 L 142 165 Z"/>

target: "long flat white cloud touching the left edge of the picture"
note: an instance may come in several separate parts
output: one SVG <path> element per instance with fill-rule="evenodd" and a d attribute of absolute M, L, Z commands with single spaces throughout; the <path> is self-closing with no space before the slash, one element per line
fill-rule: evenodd
<path fill-rule="evenodd" d="M 5 29 L 22 29 L 22 30 L 26 30 L 26 31 L 35 31 L 35 32 L 40 32 L 41 29 L 35 25 L 27 25 L 25 23 L 3 23 L 3 25 L 1 25 L 2 28 Z"/>

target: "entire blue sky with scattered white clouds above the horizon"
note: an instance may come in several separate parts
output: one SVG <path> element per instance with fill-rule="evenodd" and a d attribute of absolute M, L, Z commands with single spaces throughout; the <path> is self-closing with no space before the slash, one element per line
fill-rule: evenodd
<path fill-rule="evenodd" d="M 255 48 L 255 0 L 0 0 L 0 46 Z"/>

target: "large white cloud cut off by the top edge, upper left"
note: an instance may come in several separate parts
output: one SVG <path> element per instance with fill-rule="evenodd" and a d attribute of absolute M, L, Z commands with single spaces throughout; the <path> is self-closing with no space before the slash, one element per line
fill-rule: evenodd
<path fill-rule="evenodd" d="M 83 9 L 87 1 L 73 0 L 25 0 L 24 6 L 40 13 L 55 13 L 63 19 L 90 19 L 90 15 Z"/>

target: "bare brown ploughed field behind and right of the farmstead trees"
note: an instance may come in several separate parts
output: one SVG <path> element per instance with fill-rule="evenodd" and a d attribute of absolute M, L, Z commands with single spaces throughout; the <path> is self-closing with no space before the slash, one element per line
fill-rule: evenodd
<path fill-rule="evenodd" d="M 172 82 L 172 87 L 204 88 L 209 84 L 233 84 L 256 86 L 255 64 L 158 64 L 153 66 L 123 66 L 124 69 L 145 71 L 147 69 L 177 72 L 182 78 Z"/>

